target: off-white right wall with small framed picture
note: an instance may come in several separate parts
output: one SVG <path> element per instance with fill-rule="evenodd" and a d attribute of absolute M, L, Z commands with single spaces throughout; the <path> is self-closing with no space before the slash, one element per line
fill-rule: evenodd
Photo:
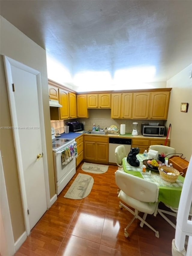
<path fill-rule="evenodd" d="M 192 154 L 192 78 L 189 78 L 192 64 L 167 81 L 172 87 L 170 107 L 166 126 L 171 127 L 170 146 L 177 153 L 183 153 L 186 160 Z M 189 103 L 188 112 L 180 111 L 181 103 Z"/>

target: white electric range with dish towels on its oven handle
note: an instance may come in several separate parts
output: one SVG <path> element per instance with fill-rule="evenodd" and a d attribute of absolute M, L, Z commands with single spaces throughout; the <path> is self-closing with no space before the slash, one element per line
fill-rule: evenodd
<path fill-rule="evenodd" d="M 56 194 L 60 194 L 70 179 L 76 173 L 76 157 L 73 154 L 76 146 L 75 139 L 55 137 L 55 129 L 51 128 L 53 162 L 55 172 Z M 71 150 L 71 156 L 67 158 L 67 150 Z"/>

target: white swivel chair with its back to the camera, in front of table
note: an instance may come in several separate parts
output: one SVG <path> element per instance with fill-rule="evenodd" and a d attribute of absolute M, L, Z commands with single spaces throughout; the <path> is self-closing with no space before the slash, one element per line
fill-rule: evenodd
<path fill-rule="evenodd" d="M 140 227 L 143 227 L 143 225 L 146 224 L 155 232 L 155 236 L 159 238 L 159 232 L 146 222 L 147 214 L 156 216 L 159 195 L 158 186 L 155 183 L 120 170 L 115 172 L 115 179 L 116 185 L 121 189 L 118 197 L 127 205 L 135 209 L 135 211 L 133 211 L 122 202 L 119 202 L 119 208 L 124 207 L 134 215 L 131 222 L 125 228 L 125 237 L 129 236 L 127 232 L 128 227 L 136 218 L 138 218 L 141 221 Z M 139 212 L 144 212 L 143 218 L 138 215 Z"/>

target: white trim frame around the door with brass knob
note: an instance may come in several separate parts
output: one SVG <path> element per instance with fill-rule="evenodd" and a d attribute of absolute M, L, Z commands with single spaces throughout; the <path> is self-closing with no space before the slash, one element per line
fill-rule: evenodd
<path fill-rule="evenodd" d="M 7 56 L 3 56 L 3 59 L 4 59 L 4 66 L 5 66 L 5 76 L 6 76 L 6 83 L 7 83 L 7 94 L 8 94 L 9 107 L 10 107 L 11 122 L 13 127 L 18 127 L 18 125 L 17 125 L 17 119 L 16 119 L 16 109 L 14 107 L 15 99 L 13 96 L 13 91 L 11 90 L 11 86 L 10 86 L 13 83 L 12 74 L 11 74 L 11 65 L 13 65 L 16 68 L 20 68 L 24 71 L 30 72 L 36 75 L 36 78 L 37 78 L 38 103 L 39 103 L 39 114 L 40 114 L 40 125 L 41 125 L 41 143 L 42 143 L 42 150 L 44 153 L 43 163 L 44 163 L 44 178 L 45 178 L 45 190 L 46 190 L 46 205 L 47 205 L 47 209 L 49 209 L 51 204 L 50 204 L 50 192 L 49 192 L 49 174 L 48 174 L 47 153 L 46 153 L 42 88 L 41 88 L 41 73 Z M 31 230 L 29 225 L 29 217 L 27 213 L 26 187 L 25 187 L 25 180 L 24 180 L 24 172 L 22 168 L 22 160 L 21 160 L 22 154 L 21 154 L 21 148 L 20 148 L 18 129 L 13 129 L 13 137 L 14 137 L 15 153 L 16 153 L 16 159 L 17 159 L 19 184 L 21 189 L 23 215 L 24 215 L 24 221 L 25 221 L 25 228 L 28 236 Z"/>

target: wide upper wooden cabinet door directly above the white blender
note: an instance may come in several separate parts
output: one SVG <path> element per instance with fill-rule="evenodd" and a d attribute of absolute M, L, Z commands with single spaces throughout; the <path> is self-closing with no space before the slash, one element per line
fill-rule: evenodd
<path fill-rule="evenodd" d="M 150 92 L 134 93 L 132 118 L 146 119 L 149 117 L 149 100 L 150 100 Z"/>

